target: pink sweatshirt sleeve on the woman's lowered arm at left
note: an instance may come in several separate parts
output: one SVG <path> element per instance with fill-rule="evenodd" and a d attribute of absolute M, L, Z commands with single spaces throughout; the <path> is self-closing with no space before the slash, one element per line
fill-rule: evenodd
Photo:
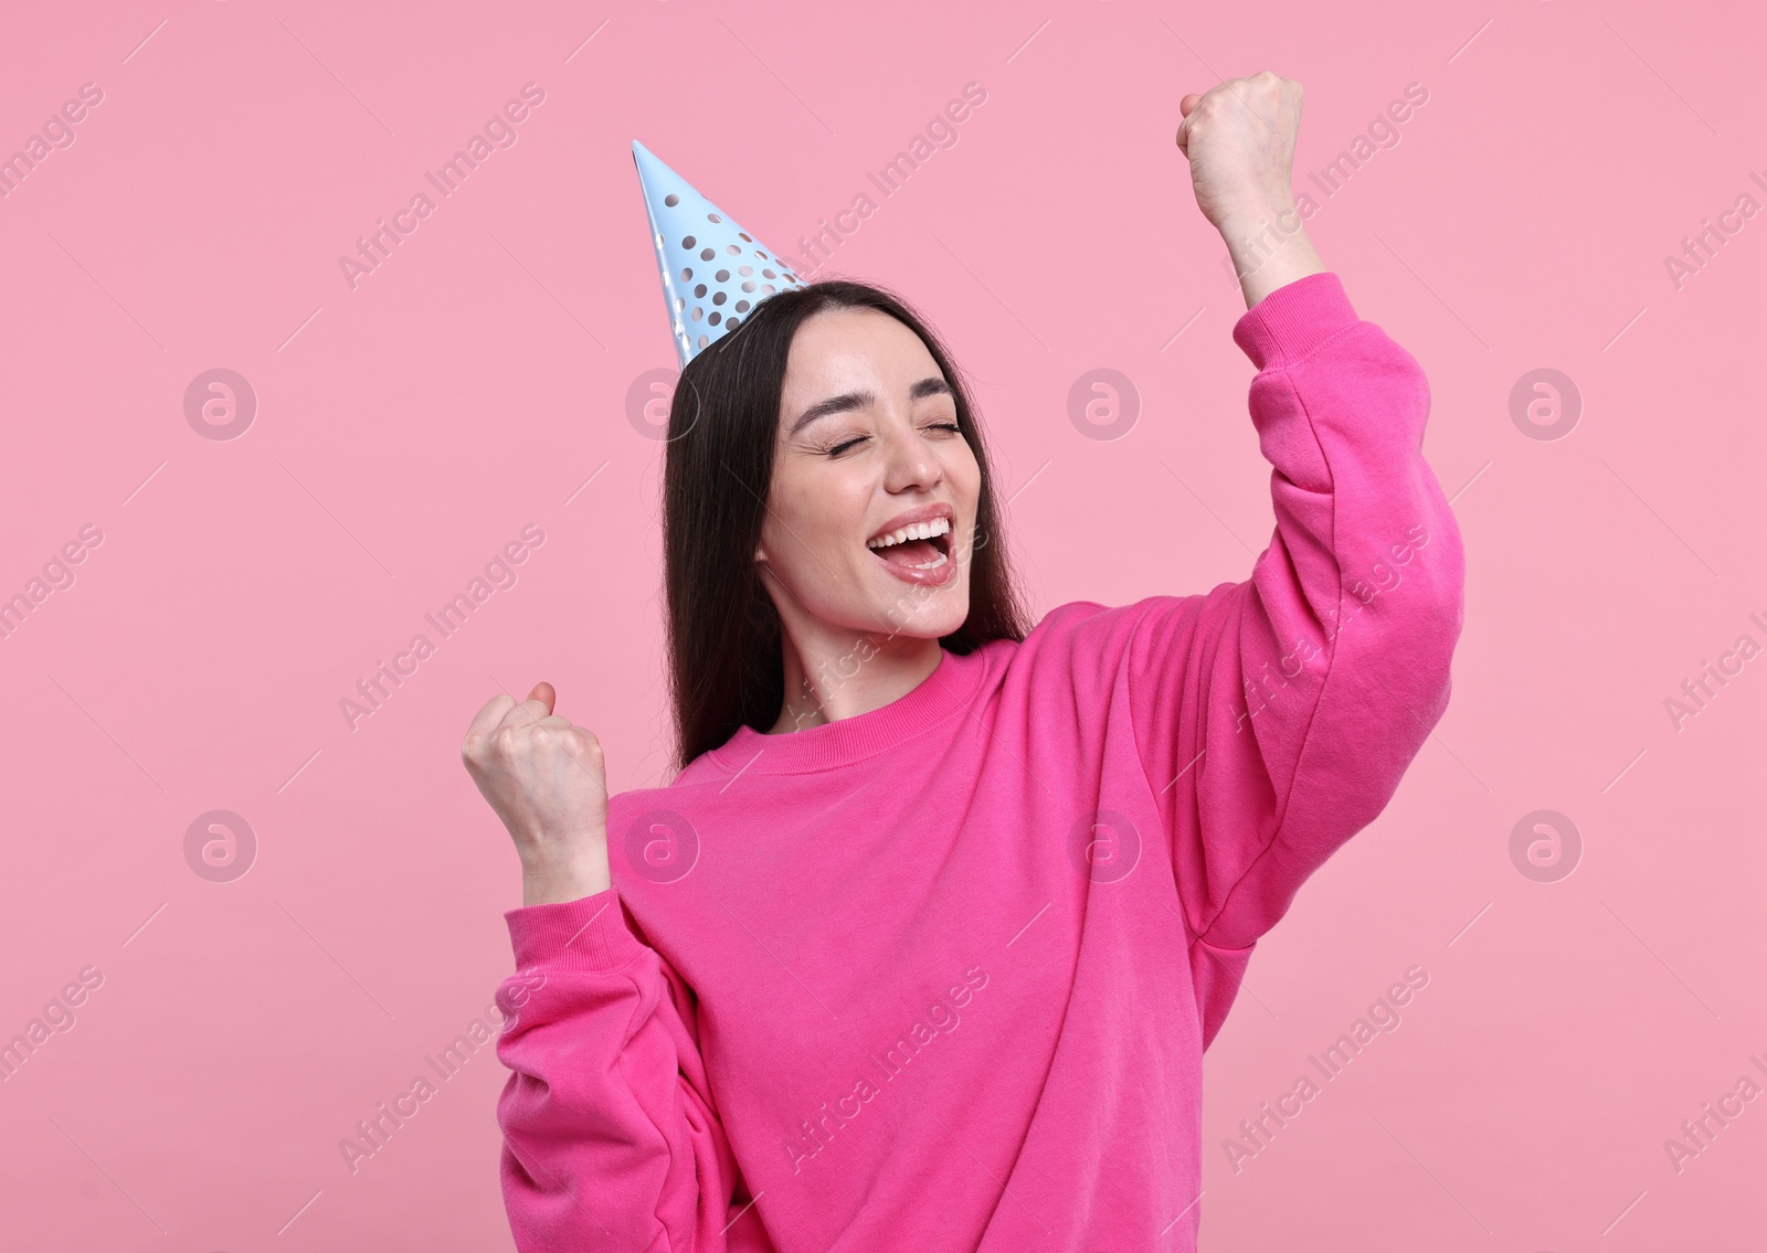
<path fill-rule="evenodd" d="M 617 889 L 504 915 L 502 1188 L 519 1253 L 772 1253 L 698 1052 L 693 991 Z M 732 1214 L 735 1212 L 735 1221 Z"/>

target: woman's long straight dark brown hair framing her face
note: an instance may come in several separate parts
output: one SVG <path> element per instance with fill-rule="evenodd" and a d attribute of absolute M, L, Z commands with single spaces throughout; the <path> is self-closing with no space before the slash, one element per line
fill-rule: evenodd
<path fill-rule="evenodd" d="M 687 362 L 670 403 L 663 578 L 680 767 L 744 725 L 770 730 L 785 702 L 779 613 L 755 566 L 755 546 L 772 488 L 792 338 L 823 309 L 876 309 L 914 330 L 951 385 L 958 428 L 981 465 L 970 613 L 940 645 L 965 654 L 990 640 L 1025 638 L 981 424 L 938 334 L 894 292 L 869 283 L 830 279 L 777 292 Z"/>

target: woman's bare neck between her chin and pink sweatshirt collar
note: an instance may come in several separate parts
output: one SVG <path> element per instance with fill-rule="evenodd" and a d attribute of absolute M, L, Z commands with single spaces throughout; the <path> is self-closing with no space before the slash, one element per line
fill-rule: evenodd
<path fill-rule="evenodd" d="M 938 668 L 938 640 L 785 624 L 785 702 L 770 735 L 838 723 L 901 700 Z"/>

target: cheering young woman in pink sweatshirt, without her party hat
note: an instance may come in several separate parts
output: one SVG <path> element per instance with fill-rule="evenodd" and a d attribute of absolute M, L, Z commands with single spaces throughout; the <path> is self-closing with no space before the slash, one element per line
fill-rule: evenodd
<path fill-rule="evenodd" d="M 1463 558 L 1422 371 L 1293 212 L 1301 85 L 1180 111 L 1274 465 L 1246 583 L 1027 631 L 959 371 L 816 283 L 675 391 L 682 772 L 610 799 L 544 682 L 474 719 L 523 1251 L 1194 1248 L 1203 1048 L 1440 718 Z"/>

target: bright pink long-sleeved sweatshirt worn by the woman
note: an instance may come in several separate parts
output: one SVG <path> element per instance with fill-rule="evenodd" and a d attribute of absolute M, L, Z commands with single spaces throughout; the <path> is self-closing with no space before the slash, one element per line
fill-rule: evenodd
<path fill-rule="evenodd" d="M 523 1253 L 1196 1248 L 1203 1048 L 1442 716 L 1463 587 L 1417 361 L 1331 272 L 1233 341 L 1249 581 L 742 728 L 611 799 L 613 887 L 505 914 Z"/>

